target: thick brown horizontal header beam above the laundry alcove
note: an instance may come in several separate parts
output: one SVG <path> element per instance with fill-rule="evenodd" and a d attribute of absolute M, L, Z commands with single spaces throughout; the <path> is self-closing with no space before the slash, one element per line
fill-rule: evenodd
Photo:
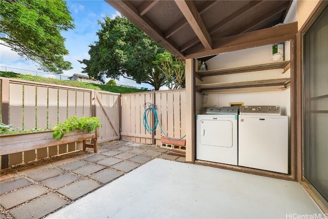
<path fill-rule="evenodd" d="M 186 58 L 198 58 L 223 52 L 231 52 L 290 41 L 291 39 L 295 39 L 297 32 L 297 22 L 294 22 L 291 24 L 284 24 L 276 27 L 228 36 L 213 41 L 212 50 L 186 54 Z"/>

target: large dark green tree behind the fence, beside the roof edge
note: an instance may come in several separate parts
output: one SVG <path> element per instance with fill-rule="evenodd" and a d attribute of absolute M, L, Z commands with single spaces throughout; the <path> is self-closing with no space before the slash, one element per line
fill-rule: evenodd
<path fill-rule="evenodd" d="M 153 63 L 156 54 L 165 49 L 125 17 L 107 16 L 99 24 L 98 41 L 90 45 L 90 59 L 79 61 L 86 65 L 84 73 L 94 78 L 123 76 L 150 84 L 155 90 L 166 84 L 165 75 Z"/>

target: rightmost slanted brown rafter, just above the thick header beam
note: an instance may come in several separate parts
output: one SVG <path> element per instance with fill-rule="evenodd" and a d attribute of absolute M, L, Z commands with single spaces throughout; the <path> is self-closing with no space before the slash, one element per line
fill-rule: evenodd
<path fill-rule="evenodd" d="M 270 9 L 269 12 L 265 13 L 262 17 L 259 17 L 257 19 L 255 19 L 254 21 L 252 21 L 250 24 L 245 25 L 241 28 L 239 28 L 238 30 L 236 30 L 233 33 L 230 33 L 229 35 L 237 35 L 239 33 L 244 33 L 247 32 L 248 30 L 252 29 L 253 27 L 262 24 L 263 22 L 267 21 L 268 19 L 270 19 L 271 17 L 275 16 L 276 14 L 279 14 L 280 12 L 286 10 L 286 5 L 281 5 L 278 8 L 275 9 Z M 275 21 L 276 22 L 276 21 Z M 226 37 L 228 36 L 228 34 L 222 36 L 222 37 Z"/>

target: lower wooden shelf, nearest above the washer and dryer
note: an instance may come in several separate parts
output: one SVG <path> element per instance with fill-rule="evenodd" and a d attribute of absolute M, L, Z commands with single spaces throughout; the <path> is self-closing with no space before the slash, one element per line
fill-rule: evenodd
<path fill-rule="evenodd" d="M 203 91 L 203 90 L 220 90 L 220 89 L 232 89 L 232 88 L 287 86 L 290 82 L 291 79 L 288 77 L 288 78 L 263 79 L 259 81 L 203 84 L 203 85 L 196 85 L 196 87 L 199 88 L 201 91 Z"/>

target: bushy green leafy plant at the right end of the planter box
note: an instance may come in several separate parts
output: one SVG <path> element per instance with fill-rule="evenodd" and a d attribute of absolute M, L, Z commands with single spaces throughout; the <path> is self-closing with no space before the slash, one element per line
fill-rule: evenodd
<path fill-rule="evenodd" d="M 52 137 L 56 140 L 60 140 L 64 136 L 64 131 L 69 133 L 70 131 L 74 131 L 75 129 L 84 130 L 87 132 L 91 132 L 96 130 L 97 127 L 100 127 L 101 124 L 97 117 L 80 117 L 76 116 L 69 117 L 63 123 L 59 123 L 53 127 Z"/>

